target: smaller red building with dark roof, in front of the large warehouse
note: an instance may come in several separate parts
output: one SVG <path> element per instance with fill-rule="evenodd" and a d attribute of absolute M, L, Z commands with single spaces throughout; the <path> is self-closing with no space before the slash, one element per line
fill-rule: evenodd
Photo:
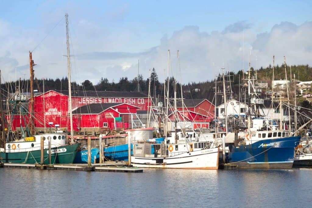
<path fill-rule="evenodd" d="M 128 103 L 101 103 L 84 105 L 73 111 L 74 131 L 113 130 L 129 128 L 129 115 L 136 114 L 139 107 Z M 70 128 L 70 126 L 68 127 Z"/>

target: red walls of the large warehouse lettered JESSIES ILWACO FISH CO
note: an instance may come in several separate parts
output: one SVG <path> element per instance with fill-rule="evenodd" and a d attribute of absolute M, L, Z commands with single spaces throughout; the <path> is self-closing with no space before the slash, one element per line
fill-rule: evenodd
<path fill-rule="evenodd" d="M 43 128 L 44 123 L 59 124 L 61 129 L 69 127 L 69 94 L 68 90 L 50 90 L 34 97 L 34 123 L 35 127 Z M 120 104 L 126 103 L 147 110 L 151 105 L 148 96 L 139 92 L 115 91 L 73 91 L 72 110 L 90 104 Z M 121 113 L 121 112 L 119 112 Z M 19 127 L 19 121 L 16 121 Z"/>

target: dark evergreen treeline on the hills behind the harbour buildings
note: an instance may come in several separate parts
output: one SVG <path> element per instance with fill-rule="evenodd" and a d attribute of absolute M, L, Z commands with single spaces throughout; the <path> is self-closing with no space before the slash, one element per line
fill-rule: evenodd
<path fill-rule="evenodd" d="M 290 80 L 290 68 L 293 74 L 296 74 L 296 80 L 300 81 L 310 81 L 312 80 L 312 67 L 309 65 L 286 65 L 287 78 Z M 246 69 L 244 72 L 245 78 Z M 269 65 L 266 68 L 261 67 L 258 70 L 251 68 L 251 76 L 256 76 L 259 82 L 268 82 L 268 86 L 271 86 L 271 80 L 273 77 L 273 67 Z M 233 71 L 227 72 L 226 80 L 231 80 L 231 87 L 234 93 L 233 97 L 238 97 L 239 93 L 239 84 L 243 83 L 243 71 L 239 70 L 237 73 Z M 274 79 L 280 80 L 285 79 L 285 69 L 284 65 L 276 65 L 274 68 Z M 222 80 L 222 79 L 221 79 Z M 217 81 L 221 81 L 220 78 Z M 168 80 L 166 80 L 166 83 Z M 20 83 L 20 84 L 19 84 Z M 43 89 L 44 83 L 44 89 Z M 156 70 L 153 68 L 151 72 L 151 80 L 149 78 L 144 79 L 142 75 L 135 77 L 133 80 L 129 80 L 127 77 L 121 77 L 118 82 L 109 82 L 107 78 L 101 78 L 98 83 L 94 84 L 90 80 L 85 80 L 84 82 L 78 84 L 72 82 L 72 90 L 98 90 L 98 91 L 140 91 L 144 94 L 148 94 L 149 83 L 151 85 L 151 95 L 155 97 L 163 97 L 164 94 L 164 84 L 158 80 L 158 75 Z M 181 85 L 178 83 L 174 77 L 169 78 L 169 97 L 174 97 L 174 84 L 177 83 L 177 97 L 181 97 Z M 217 82 L 218 83 L 218 82 Z M 15 92 L 16 87 L 20 85 L 21 91 L 29 91 L 30 81 L 29 80 L 20 80 L 20 82 L 10 82 L 2 84 L 2 89 L 9 92 Z M 207 98 L 212 99 L 214 96 L 214 80 L 207 80 L 205 82 L 192 82 L 182 85 L 183 98 L 186 99 L 198 99 L 198 98 Z M 139 88 L 139 90 L 138 90 Z M 217 84 L 217 88 L 222 88 L 220 83 Z M 68 90 L 68 79 L 63 77 L 62 79 L 56 78 L 45 79 L 45 80 L 34 80 L 34 89 L 37 89 L 39 92 L 48 91 L 48 90 Z"/>

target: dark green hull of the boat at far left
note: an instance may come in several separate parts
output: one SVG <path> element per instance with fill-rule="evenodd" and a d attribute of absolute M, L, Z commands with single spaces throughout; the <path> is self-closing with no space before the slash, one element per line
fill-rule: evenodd
<path fill-rule="evenodd" d="M 57 148 L 51 148 L 51 164 L 73 163 L 80 143 L 64 145 Z M 44 149 L 44 164 L 49 164 L 49 149 Z M 34 150 L 28 152 L 1 152 L 0 161 L 4 163 L 40 163 L 41 151 Z"/>

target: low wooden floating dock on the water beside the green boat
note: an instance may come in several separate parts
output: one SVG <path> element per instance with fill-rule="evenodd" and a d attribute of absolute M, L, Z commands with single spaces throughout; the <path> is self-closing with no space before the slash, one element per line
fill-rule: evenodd
<path fill-rule="evenodd" d="M 91 167 L 88 164 L 23 164 L 23 163 L 0 163 L 0 167 L 7 168 L 28 168 L 40 170 L 70 170 L 70 171 L 101 171 L 101 172 L 129 172 L 139 173 L 143 172 L 143 168 L 127 166 L 126 162 L 105 162 L 95 163 Z"/>

